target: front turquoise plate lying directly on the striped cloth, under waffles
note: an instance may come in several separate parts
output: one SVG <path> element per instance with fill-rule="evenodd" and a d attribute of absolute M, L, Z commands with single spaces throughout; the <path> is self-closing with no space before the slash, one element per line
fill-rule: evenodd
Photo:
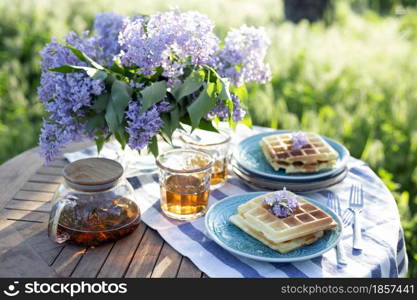
<path fill-rule="evenodd" d="M 265 192 L 247 193 L 227 197 L 212 205 L 205 217 L 205 225 L 210 237 L 224 249 L 247 258 L 267 262 L 293 262 L 311 259 L 329 251 L 339 242 L 342 236 L 342 221 L 329 208 L 308 197 L 307 201 L 318 206 L 338 223 L 333 230 L 327 230 L 324 236 L 311 245 L 304 246 L 285 254 L 281 254 L 254 239 L 237 226 L 229 218 L 237 214 L 237 207 Z"/>

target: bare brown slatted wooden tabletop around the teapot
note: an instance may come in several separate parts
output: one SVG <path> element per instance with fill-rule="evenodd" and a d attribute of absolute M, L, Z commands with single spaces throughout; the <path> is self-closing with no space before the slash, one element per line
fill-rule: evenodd
<path fill-rule="evenodd" d="M 95 248 L 50 241 L 51 199 L 68 162 L 58 157 L 45 167 L 38 153 L 33 148 L 0 166 L 0 277 L 207 277 L 143 223 Z"/>

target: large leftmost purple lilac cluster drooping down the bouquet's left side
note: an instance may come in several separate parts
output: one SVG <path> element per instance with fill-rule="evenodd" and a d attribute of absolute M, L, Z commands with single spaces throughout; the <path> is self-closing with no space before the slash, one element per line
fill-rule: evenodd
<path fill-rule="evenodd" d="M 84 39 L 75 33 L 66 37 L 66 42 L 93 56 L 92 40 Z M 84 72 L 59 73 L 50 68 L 62 65 L 83 66 L 85 63 L 55 39 L 41 51 L 41 85 L 38 88 L 40 101 L 48 112 L 44 121 L 39 144 L 50 162 L 67 143 L 79 140 L 85 132 L 85 124 L 80 118 L 85 116 L 86 108 L 92 105 L 95 95 L 104 90 L 100 80 L 92 80 Z"/>

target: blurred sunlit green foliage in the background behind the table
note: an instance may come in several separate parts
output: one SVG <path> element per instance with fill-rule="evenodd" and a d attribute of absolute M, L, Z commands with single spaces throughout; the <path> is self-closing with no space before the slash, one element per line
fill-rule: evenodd
<path fill-rule="evenodd" d="M 370 4 L 386 1 L 345 0 L 337 1 L 331 24 L 296 25 L 284 21 L 277 0 L 212 2 L 20 0 L 10 5 L 0 0 L 0 163 L 37 144 L 38 53 L 51 36 L 81 32 L 101 11 L 148 14 L 172 6 L 209 15 L 220 35 L 243 23 L 262 25 L 272 39 L 274 75 L 267 85 L 249 89 L 254 123 L 320 132 L 366 161 L 395 196 L 409 275 L 417 277 L 417 12 L 408 8 L 387 15 Z M 388 2 L 394 3 L 393 12 L 417 1 Z"/>

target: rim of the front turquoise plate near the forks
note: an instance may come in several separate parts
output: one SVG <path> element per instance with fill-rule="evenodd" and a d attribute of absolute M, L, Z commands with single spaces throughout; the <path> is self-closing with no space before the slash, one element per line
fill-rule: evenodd
<path fill-rule="evenodd" d="M 204 217 L 204 225 L 205 225 L 205 229 L 206 229 L 206 231 L 207 231 L 207 233 L 209 234 L 209 236 L 210 236 L 210 238 L 217 244 L 217 245 L 219 245 L 220 247 L 222 247 L 223 249 L 225 249 L 225 250 L 227 250 L 227 251 L 229 251 L 229 252 L 231 252 L 231 253 L 233 253 L 233 254 L 236 254 L 236 255 L 238 255 L 238 256 L 240 256 L 240 257 L 245 257 L 245 258 L 250 258 L 250 259 L 253 259 L 253 260 L 257 260 L 257 261 L 264 261 L 264 262 L 271 262 L 271 263 L 288 263 L 288 262 L 296 262 L 296 261 L 305 261 L 305 260 L 309 260 L 309 259 L 312 259 L 312 258 L 315 258 L 315 257 L 317 257 L 317 256 L 320 256 L 320 255 L 322 255 L 323 253 L 326 253 L 326 252 L 328 252 L 328 251 L 330 251 L 331 249 L 333 249 L 334 247 L 336 247 L 336 245 L 339 243 L 339 241 L 341 240 L 341 238 L 342 238 L 342 235 L 343 235 L 343 226 L 342 226 L 342 220 L 340 219 L 340 217 L 336 214 L 336 213 L 334 213 L 330 208 L 328 208 L 328 207 L 326 207 L 325 205 L 323 205 L 323 204 L 321 204 L 320 202 L 318 202 L 318 201 L 316 201 L 316 200 L 314 200 L 314 199 L 312 199 L 311 197 L 306 197 L 306 196 L 304 196 L 304 195 L 298 195 L 298 196 L 300 196 L 300 197 L 303 197 L 303 198 L 307 198 L 307 201 L 312 201 L 312 203 L 314 204 L 314 205 L 317 205 L 318 204 L 318 206 L 321 208 L 321 209 L 323 209 L 323 207 L 325 207 L 325 209 L 326 210 L 329 210 L 331 213 L 331 215 L 332 215 L 332 218 L 334 218 L 335 219 L 335 221 L 338 223 L 338 227 L 339 227 L 339 235 L 337 236 L 337 238 L 336 238 L 336 240 L 334 241 L 334 242 L 332 242 L 328 247 L 326 247 L 325 249 L 322 249 L 322 250 L 320 250 L 320 251 L 318 251 L 318 252 L 316 252 L 316 253 L 313 253 L 313 254 L 310 254 L 310 255 L 305 255 L 305 256 L 299 256 L 299 257 L 292 257 L 292 258 L 271 258 L 271 257 L 261 257 L 261 256 L 256 256 L 256 255 L 252 255 L 252 254 L 247 254 L 247 253 L 244 253 L 244 252 L 241 252 L 241 251 L 239 251 L 239 250 L 236 250 L 236 249 L 234 249 L 234 248 L 232 248 L 232 247 L 229 247 L 228 245 L 226 245 L 225 243 L 223 243 L 214 233 L 212 233 L 211 232 L 211 230 L 210 230 L 210 226 L 209 226 L 209 224 L 208 224 L 208 222 L 209 222 L 209 215 L 212 213 L 212 211 L 214 210 L 214 207 L 216 207 L 217 205 L 219 205 L 220 203 L 223 203 L 224 201 L 227 201 L 227 200 L 229 200 L 230 198 L 232 198 L 232 197 L 237 197 L 237 196 L 242 196 L 242 195 L 248 195 L 248 194 L 251 194 L 251 195 L 253 195 L 253 197 L 257 197 L 257 196 L 260 196 L 260 195 L 262 195 L 262 194 L 266 194 L 266 193 L 270 193 L 270 192 L 265 192 L 265 191 L 262 191 L 262 192 L 250 192 L 250 193 L 244 193 L 244 194 L 237 194 L 237 195 L 231 195 L 231 196 L 228 196 L 228 197 L 226 197 L 226 198 L 224 198 L 224 199 L 222 199 L 222 200 L 219 200 L 219 201 L 217 201 L 216 203 L 214 203 L 210 208 L 209 208 L 209 210 L 207 211 L 207 213 L 206 213 L 206 216 Z M 251 198 L 249 198 L 248 199 L 248 201 L 250 200 L 250 199 L 253 199 L 253 197 L 251 197 Z M 328 213 L 327 211 L 326 211 L 326 213 Z M 230 221 L 229 221 L 230 222 Z M 234 225 L 234 226 L 236 226 L 236 225 Z M 332 229 L 333 230 L 333 229 Z M 244 233 L 244 234 L 247 234 L 246 232 L 244 232 L 243 230 L 242 230 L 242 233 Z"/>

